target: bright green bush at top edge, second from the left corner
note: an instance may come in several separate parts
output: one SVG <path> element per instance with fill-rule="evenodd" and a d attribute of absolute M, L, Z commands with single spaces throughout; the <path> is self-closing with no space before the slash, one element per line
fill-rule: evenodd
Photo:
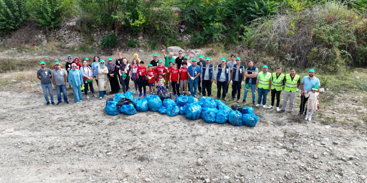
<path fill-rule="evenodd" d="M 27 0 L 27 11 L 30 18 L 42 27 L 57 27 L 61 25 L 63 17 L 70 16 L 71 0 Z"/>

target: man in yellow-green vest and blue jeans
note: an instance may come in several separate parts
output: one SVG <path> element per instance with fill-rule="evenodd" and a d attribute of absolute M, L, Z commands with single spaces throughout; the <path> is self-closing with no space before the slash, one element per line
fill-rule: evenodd
<path fill-rule="evenodd" d="M 272 75 L 268 72 L 268 66 L 262 66 L 262 72 L 260 72 L 256 77 L 256 91 L 258 94 L 257 104 L 255 106 L 266 107 L 266 98 L 268 97 L 268 92 L 270 91 L 270 85 L 272 85 Z"/>

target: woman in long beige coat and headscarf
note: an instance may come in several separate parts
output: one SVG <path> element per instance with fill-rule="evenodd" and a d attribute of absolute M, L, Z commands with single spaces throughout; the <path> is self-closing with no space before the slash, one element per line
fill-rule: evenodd
<path fill-rule="evenodd" d="M 111 91 L 110 82 L 107 77 L 108 68 L 105 66 L 105 61 L 101 59 L 98 66 L 98 89 L 99 99 L 102 99 L 106 95 L 106 90 Z"/>

